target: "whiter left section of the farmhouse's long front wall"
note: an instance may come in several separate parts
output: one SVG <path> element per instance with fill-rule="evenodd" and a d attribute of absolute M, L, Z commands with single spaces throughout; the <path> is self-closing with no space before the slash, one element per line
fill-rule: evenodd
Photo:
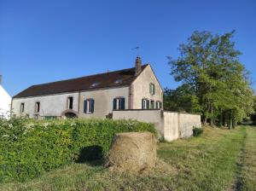
<path fill-rule="evenodd" d="M 35 104 L 40 102 L 40 116 L 61 116 L 61 113 L 67 110 L 67 97 L 73 96 L 73 110 L 78 111 L 79 93 L 66 93 L 49 96 L 34 96 L 26 98 L 13 99 L 12 107 L 16 116 L 20 116 L 20 103 L 24 103 L 24 113 L 22 116 L 33 117 L 35 114 Z"/>

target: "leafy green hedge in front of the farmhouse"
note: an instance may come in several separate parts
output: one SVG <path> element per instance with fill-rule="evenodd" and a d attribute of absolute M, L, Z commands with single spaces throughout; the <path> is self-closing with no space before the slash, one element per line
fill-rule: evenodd
<path fill-rule="evenodd" d="M 0 182 L 25 181 L 84 157 L 104 157 L 114 134 L 127 131 L 156 133 L 153 124 L 131 120 L 1 119 Z"/>

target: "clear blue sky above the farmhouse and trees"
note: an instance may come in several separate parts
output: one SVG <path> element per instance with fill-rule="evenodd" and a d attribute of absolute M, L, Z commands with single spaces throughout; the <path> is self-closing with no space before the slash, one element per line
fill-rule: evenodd
<path fill-rule="evenodd" d="M 32 84 L 133 67 L 138 44 L 162 86 L 175 88 L 166 56 L 176 58 L 195 30 L 233 29 L 255 80 L 253 0 L 0 0 L 0 73 L 14 96 Z"/>

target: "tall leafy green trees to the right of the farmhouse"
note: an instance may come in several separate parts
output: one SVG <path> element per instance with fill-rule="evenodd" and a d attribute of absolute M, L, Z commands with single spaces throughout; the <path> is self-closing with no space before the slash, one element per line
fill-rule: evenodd
<path fill-rule="evenodd" d="M 255 112 L 249 72 L 239 60 L 234 32 L 193 32 L 179 45 L 177 59 L 167 57 L 171 75 L 181 85 L 165 89 L 166 110 L 199 113 L 203 124 L 229 128 Z"/>

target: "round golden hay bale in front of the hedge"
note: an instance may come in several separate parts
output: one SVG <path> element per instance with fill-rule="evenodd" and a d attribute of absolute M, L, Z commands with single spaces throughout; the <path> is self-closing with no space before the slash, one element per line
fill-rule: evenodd
<path fill-rule="evenodd" d="M 107 165 L 125 171 L 144 171 L 154 167 L 156 139 L 149 132 L 118 133 L 108 153 Z"/>

